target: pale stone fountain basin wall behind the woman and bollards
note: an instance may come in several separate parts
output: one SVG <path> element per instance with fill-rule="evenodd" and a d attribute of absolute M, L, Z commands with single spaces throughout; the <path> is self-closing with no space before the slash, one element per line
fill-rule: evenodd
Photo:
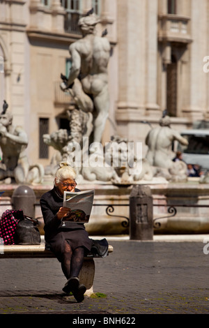
<path fill-rule="evenodd" d="M 49 182 L 49 181 L 47 181 Z M 165 181 L 141 181 L 150 187 L 153 195 L 153 218 L 155 234 L 198 234 L 209 233 L 209 184 L 199 184 L 196 179 L 187 183 L 169 184 Z M 12 209 L 11 197 L 17 185 L 1 185 L 5 191 L 1 197 L 1 213 Z M 35 216 L 43 234 L 43 221 L 39 200 L 43 193 L 53 188 L 53 183 L 30 186 L 36 195 Z M 98 181 L 78 185 L 83 190 L 94 189 L 95 201 L 86 230 L 91 235 L 129 234 L 129 197 L 132 186 L 100 184 Z M 177 213 L 171 216 L 168 208 L 175 205 Z M 182 205 L 180 207 L 180 205 Z M 170 216 L 170 217 L 169 217 Z M 160 218 L 160 219 L 157 219 Z"/>

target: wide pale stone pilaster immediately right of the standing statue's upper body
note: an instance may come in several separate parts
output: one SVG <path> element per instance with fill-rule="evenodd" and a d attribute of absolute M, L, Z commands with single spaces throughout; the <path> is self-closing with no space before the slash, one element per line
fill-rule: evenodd
<path fill-rule="evenodd" d="M 118 1 L 118 110 L 145 110 L 146 1 Z"/>

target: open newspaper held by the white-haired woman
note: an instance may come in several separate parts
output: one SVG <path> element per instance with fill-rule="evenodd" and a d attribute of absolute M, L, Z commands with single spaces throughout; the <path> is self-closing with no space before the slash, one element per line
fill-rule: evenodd
<path fill-rule="evenodd" d="M 70 214 L 63 221 L 88 223 L 93 206 L 94 191 L 64 191 L 63 207 L 70 208 Z"/>

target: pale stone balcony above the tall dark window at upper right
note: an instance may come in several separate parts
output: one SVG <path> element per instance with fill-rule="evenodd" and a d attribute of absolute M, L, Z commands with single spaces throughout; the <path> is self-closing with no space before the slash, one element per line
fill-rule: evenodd
<path fill-rule="evenodd" d="M 190 43 L 189 17 L 179 15 L 158 16 L 158 40 Z"/>

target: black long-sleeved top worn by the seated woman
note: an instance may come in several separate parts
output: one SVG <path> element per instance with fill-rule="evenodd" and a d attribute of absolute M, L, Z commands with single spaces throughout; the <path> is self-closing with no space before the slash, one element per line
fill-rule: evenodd
<path fill-rule="evenodd" d="M 75 191 L 79 191 L 75 189 Z M 49 240 L 61 229 L 85 229 L 84 223 L 68 223 L 68 227 L 62 227 L 62 222 L 56 217 L 60 207 L 63 207 L 63 197 L 57 193 L 56 186 L 51 191 L 47 191 L 40 198 L 40 207 L 45 223 L 45 240 Z"/>

